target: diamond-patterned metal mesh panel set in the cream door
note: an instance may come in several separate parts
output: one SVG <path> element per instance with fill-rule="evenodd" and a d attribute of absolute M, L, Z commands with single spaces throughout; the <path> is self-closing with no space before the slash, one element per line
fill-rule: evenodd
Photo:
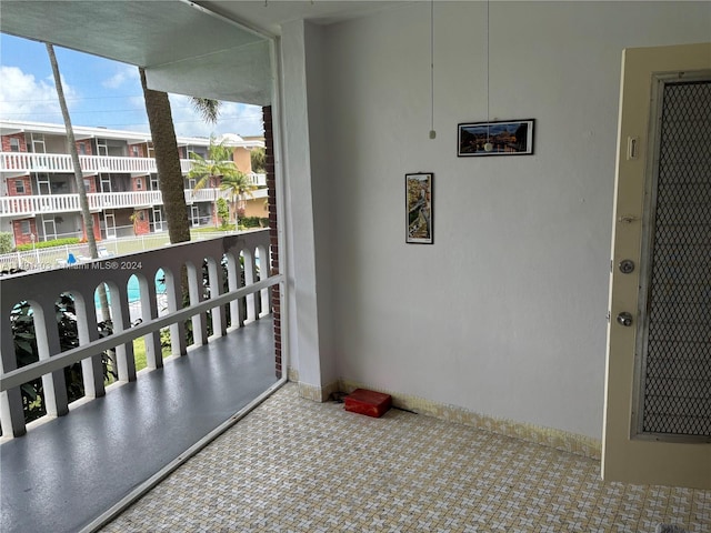
<path fill-rule="evenodd" d="M 667 83 L 642 432 L 711 436 L 711 82 Z"/>

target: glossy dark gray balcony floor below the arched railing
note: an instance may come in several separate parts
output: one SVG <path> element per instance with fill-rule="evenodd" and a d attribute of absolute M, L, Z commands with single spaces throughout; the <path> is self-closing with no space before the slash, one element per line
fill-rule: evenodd
<path fill-rule="evenodd" d="M 278 379 L 261 319 L 0 445 L 0 531 L 76 532 Z"/>

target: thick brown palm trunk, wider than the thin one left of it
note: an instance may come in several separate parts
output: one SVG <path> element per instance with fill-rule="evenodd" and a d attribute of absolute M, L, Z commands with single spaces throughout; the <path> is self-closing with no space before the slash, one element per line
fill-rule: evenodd
<path fill-rule="evenodd" d="M 141 87 L 146 99 L 146 112 L 151 128 L 153 150 L 156 153 L 156 167 L 158 169 L 159 187 L 163 197 L 163 209 L 168 222 L 168 234 L 171 243 L 190 240 L 190 225 L 188 223 L 188 205 L 173 118 L 170 111 L 170 100 L 162 91 L 153 91 L 146 84 L 146 72 L 139 68 Z"/>

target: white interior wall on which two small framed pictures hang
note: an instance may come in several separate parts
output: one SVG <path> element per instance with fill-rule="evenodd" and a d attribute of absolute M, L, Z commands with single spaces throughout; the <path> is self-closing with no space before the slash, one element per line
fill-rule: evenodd
<path fill-rule="evenodd" d="M 302 133 L 319 140 L 309 153 L 327 160 L 311 180 L 330 194 L 294 210 L 312 209 L 329 230 L 304 251 L 309 238 L 293 227 L 291 251 L 310 254 L 320 280 L 330 269 L 318 312 L 294 320 L 328 316 L 319 325 L 332 328 L 336 354 L 297 358 L 301 368 L 333 360 L 339 376 L 393 393 L 599 439 L 621 52 L 709 40 L 711 4 L 490 10 L 490 118 L 534 118 L 534 155 L 455 154 L 457 123 L 487 118 L 485 3 L 435 3 L 435 140 L 429 2 L 320 30 L 323 69 L 308 86 L 322 83 L 322 108 L 310 101 Z M 284 97 L 299 104 L 288 87 Z M 435 175 L 433 245 L 404 243 L 413 171 Z"/>

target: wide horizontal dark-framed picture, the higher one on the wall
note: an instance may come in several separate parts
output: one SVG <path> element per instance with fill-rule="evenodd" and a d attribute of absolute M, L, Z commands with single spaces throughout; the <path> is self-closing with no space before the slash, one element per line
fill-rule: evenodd
<path fill-rule="evenodd" d="M 533 119 L 468 122 L 459 124 L 457 155 L 530 155 L 533 153 Z"/>

